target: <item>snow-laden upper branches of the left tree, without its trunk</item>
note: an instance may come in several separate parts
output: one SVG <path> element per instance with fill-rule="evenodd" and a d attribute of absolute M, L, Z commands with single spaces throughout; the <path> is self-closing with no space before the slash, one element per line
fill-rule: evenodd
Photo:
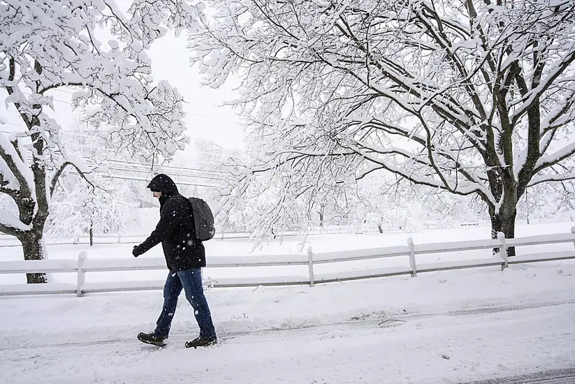
<path fill-rule="evenodd" d="M 180 149 L 182 97 L 166 82 L 154 84 L 145 49 L 168 28 L 194 30 L 201 6 L 188 1 L 134 1 L 128 11 L 131 17 L 113 1 L 69 0 L 60 5 L 12 0 L 4 8 L 8 18 L 0 20 L 6 26 L 0 37 L 11 36 L 10 45 L 5 43 L 11 72 L 10 77 L 0 77 L 0 85 L 10 89 L 6 101 L 24 114 L 28 125 L 38 108 L 53 108 L 50 96 L 45 96 L 48 91 L 75 87 L 86 91 L 75 94 L 74 105 L 88 108 L 92 123 L 114 124 L 122 137 L 131 136 L 125 141 L 131 142 L 134 152 L 171 156 Z M 27 22 L 24 9 L 46 21 L 41 32 Z M 119 41 L 101 43 L 99 24 L 109 27 Z M 15 71 L 23 74 L 18 82 L 10 80 Z"/>

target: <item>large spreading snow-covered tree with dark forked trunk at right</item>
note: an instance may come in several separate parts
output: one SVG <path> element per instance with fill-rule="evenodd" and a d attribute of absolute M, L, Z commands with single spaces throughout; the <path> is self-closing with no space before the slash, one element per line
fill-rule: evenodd
<path fill-rule="evenodd" d="M 279 168 L 296 193 L 309 169 L 322 186 L 344 176 L 334 163 L 356 179 L 386 170 L 476 195 L 493 236 L 507 237 L 530 186 L 575 177 L 574 1 L 208 7 L 212 21 L 189 37 L 192 61 L 212 87 L 241 77 L 260 149 L 252 175 Z"/>

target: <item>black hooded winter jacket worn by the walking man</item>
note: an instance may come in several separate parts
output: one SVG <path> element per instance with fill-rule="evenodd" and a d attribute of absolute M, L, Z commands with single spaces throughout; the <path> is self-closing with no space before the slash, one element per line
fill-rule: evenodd
<path fill-rule="evenodd" d="M 161 242 L 170 271 L 205 267 L 205 250 L 201 240 L 196 239 L 189 200 L 163 174 L 154 177 L 147 187 L 152 192 L 161 192 L 160 221 L 152 234 L 134 248 L 133 255 L 139 256 Z"/>

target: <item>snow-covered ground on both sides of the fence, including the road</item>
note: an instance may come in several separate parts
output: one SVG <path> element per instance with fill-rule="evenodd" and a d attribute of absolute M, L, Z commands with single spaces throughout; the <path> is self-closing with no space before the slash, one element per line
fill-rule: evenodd
<path fill-rule="evenodd" d="M 522 226 L 518 236 L 568 232 L 571 226 Z M 370 248 L 405 244 L 409 236 L 415 242 L 481 239 L 488 230 L 328 235 L 308 237 L 305 246 Z M 302 245 L 301 238 L 284 239 L 255 253 L 299 253 Z M 553 249 L 564 245 L 573 246 Z M 208 257 L 245 255 L 251 248 L 244 240 L 206 246 Z M 75 258 L 84 248 L 52 246 L 50 258 Z M 130 248 L 96 246 L 89 257 L 131 257 Z M 0 253 L 1 260 L 19 256 L 13 248 Z M 159 256 L 160 250 L 151 253 Z M 201 350 L 184 348 L 198 330 L 183 296 L 169 344 L 161 350 L 136 340 L 138 332 L 154 327 L 160 291 L 1 297 L 0 381 L 460 383 L 575 366 L 571 260 L 313 288 L 219 288 L 206 295 L 221 342 Z"/>

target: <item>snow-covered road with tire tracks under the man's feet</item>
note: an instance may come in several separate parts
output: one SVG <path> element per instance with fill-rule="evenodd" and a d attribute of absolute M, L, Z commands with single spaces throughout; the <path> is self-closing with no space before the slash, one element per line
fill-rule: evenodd
<path fill-rule="evenodd" d="M 514 376 L 537 379 L 551 370 L 563 381 L 532 383 L 567 383 L 575 381 L 574 318 L 574 301 L 407 313 L 221 330 L 221 344 L 202 350 L 185 349 L 182 333 L 163 349 L 140 344 L 136 334 L 66 343 L 6 334 L 0 372 L 3 383 L 514 383 Z"/>

